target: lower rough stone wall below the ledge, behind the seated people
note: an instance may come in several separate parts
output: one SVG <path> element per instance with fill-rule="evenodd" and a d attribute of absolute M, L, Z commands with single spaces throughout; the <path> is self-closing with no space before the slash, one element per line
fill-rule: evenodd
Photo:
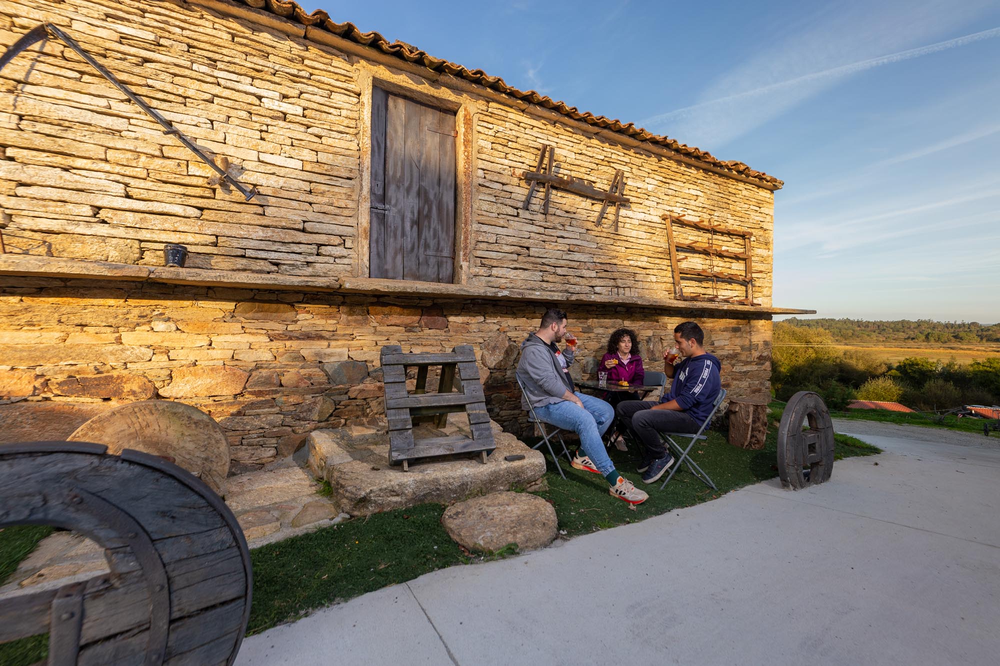
<path fill-rule="evenodd" d="M 521 432 L 526 424 L 513 372 L 518 347 L 545 307 L 131 282 L 108 287 L 105 281 L 50 278 L 5 281 L 0 402 L 178 400 L 207 412 L 226 430 L 237 473 L 290 454 L 314 429 L 378 423 L 378 356 L 387 344 L 414 352 L 473 345 L 491 416 L 508 431 Z M 581 340 L 574 372 L 589 377 L 620 326 L 636 330 L 647 358 L 659 358 L 673 327 L 694 316 L 572 309 L 570 324 Z M 706 347 L 722 360 L 723 385 L 738 396 L 766 392 L 771 322 L 701 321 Z"/>

